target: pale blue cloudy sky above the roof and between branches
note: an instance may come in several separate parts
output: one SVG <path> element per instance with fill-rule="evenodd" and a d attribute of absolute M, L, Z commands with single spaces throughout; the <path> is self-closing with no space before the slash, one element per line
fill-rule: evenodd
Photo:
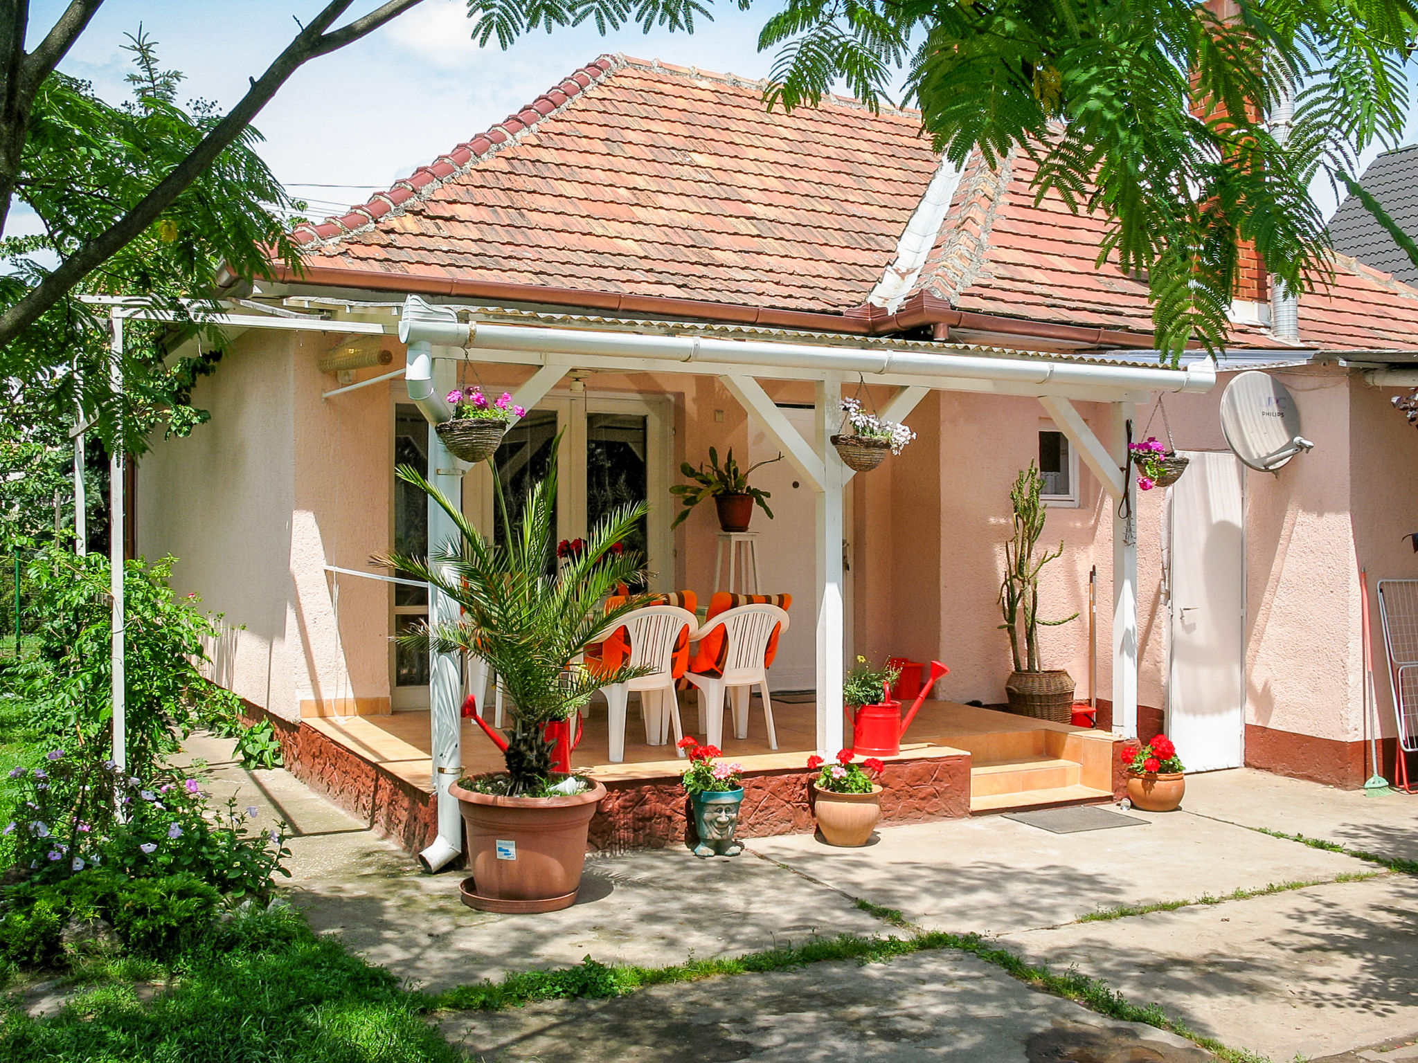
<path fill-rule="evenodd" d="M 356 10 L 376 0 L 357 0 Z M 67 0 L 34 0 L 31 27 L 47 28 Z M 129 55 L 123 34 L 143 23 L 166 67 L 187 75 L 187 96 L 235 103 L 247 78 L 289 41 L 292 16 L 309 17 L 323 0 L 108 0 L 62 69 L 92 81 L 106 99 L 122 99 Z M 761 78 L 771 55 L 759 54 L 757 33 L 774 0 L 743 13 L 713 4 L 715 21 L 692 37 L 594 28 L 536 33 L 503 52 L 478 48 L 464 0 L 424 0 L 384 28 L 298 71 L 257 118 L 262 156 L 289 189 L 311 201 L 313 215 L 363 203 L 462 140 L 486 129 L 605 51 L 659 58 L 686 67 Z M 1408 137 L 1418 136 L 1409 120 Z M 1371 150 L 1366 157 L 1377 154 Z M 339 187 L 319 187 L 339 186 Z M 1333 198 L 1316 189 L 1326 208 Z M 18 232 L 18 225 L 10 227 Z"/>

